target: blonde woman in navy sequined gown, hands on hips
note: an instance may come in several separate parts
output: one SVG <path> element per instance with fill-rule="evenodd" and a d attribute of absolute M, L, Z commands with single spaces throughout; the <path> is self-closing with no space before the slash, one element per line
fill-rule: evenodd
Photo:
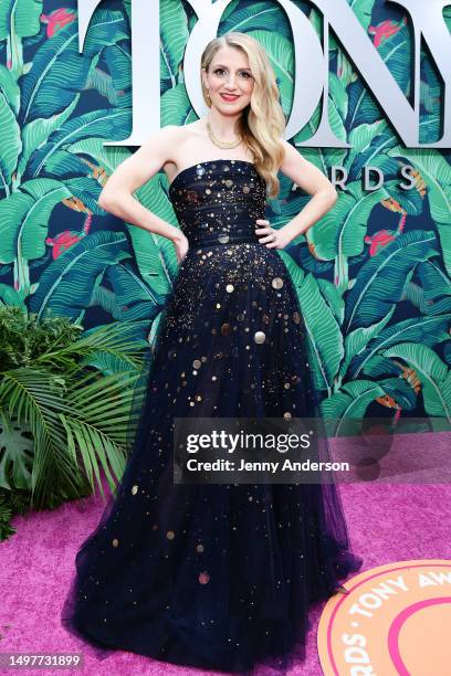
<path fill-rule="evenodd" d="M 204 669 L 284 672 L 304 657 L 307 611 L 345 590 L 349 551 L 333 484 L 174 483 L 176 418 L 318 415 L 306 330 L 276 251 L 334 204 L 322 172 L 283 140 L 274 73 L 231 32 L 201 60 L 209 114 L 155 134 L 99 204 L 170 239 L 180 263 L 156 337 L 133 451 L 82 545 L 63 622 L 93 646 Z M 160 168 L 180 230 L 134 190 Z M 280 230 L 264 219 L 281 170 L 312 199 Z"/>

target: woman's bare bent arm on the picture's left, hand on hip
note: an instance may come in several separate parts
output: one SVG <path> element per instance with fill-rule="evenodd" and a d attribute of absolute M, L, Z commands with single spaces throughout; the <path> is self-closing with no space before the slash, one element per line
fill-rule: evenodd
<path fill-rule="evenodd" d="M 98 198 L 98 205 L 105 211 L 171 240 L 176 247 L 186 240 L 182 232 L 153 213 L 133 196 L 133 192 L 155 176 L 170 159 L 179 127 L 168 125 L 153 134 L 134 155 L 113 171 Z"/>

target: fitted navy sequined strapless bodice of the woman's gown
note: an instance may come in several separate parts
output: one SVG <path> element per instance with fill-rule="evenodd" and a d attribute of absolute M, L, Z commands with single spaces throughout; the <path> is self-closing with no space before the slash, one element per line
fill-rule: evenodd
<path fill-rule="evenodd" d="M 207 160 L 182 169 L 169 186 L 181 231 L 190 245 L 258 243 L 266 186 L 247 160 Z"/>

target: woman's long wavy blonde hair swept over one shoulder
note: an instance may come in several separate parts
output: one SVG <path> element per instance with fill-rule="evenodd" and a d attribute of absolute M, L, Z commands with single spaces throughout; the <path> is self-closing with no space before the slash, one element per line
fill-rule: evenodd
<path fill-rule="evenodd" d="M 266 181 L 269 197 L 275 198 L 280 191 L 277 171 L 284 158 L 280 139 L 283 137 L 286 120 L 279 102 L 274 71 L 260 42 L 238 31 L 224 33 L 208 43 L 200 60 L 201 71 L 206 68 L 208 72 L 214 54 L 223 46 L 241 50 L 248 56 L 254 87 L 250 104 L 244 108 L 237 127 L 254 156 L 255 169 Z M 201 86 L 203 99 L 211 106 L 202 77 Z"/>

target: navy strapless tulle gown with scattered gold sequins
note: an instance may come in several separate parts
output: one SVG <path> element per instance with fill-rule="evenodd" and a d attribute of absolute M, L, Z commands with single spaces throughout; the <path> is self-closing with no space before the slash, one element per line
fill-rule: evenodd
<path fill-rule="evenodd" d="M 253 163 L 188 167 L 169 198 L 190 249 L 124 475 L 78 549 L 62 622 L 98 657 L 285 673 L 305 657 L 310 605 L 346 593 L 338 580 L 363 563 L 337 488 L 175 484 L 171 433 L 175 416 L 318 415 L 306 328 L 282 256 L 255 233 L 266 196 Z"/>

